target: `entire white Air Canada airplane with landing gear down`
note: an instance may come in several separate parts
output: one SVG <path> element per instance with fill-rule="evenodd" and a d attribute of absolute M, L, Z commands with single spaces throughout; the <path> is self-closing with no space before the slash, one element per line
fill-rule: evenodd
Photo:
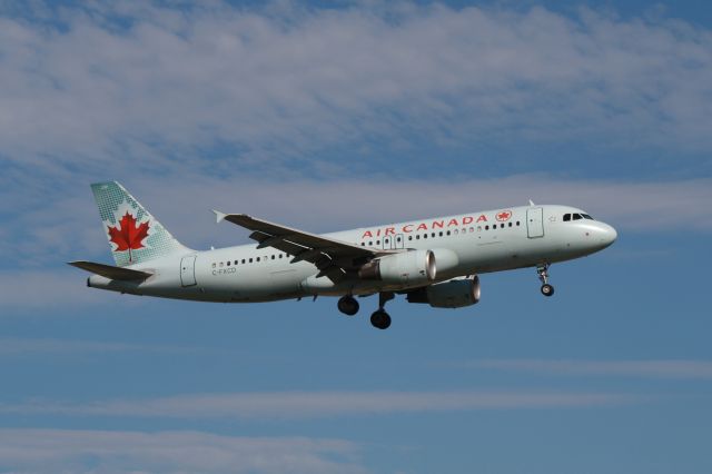
<path fill-rule="evenodd" d="M 180 244 L 117 181 L 91 185 L 116 265 L 70 261 L 90 271 L 87 286 L 130 295 L 220 303 L 378 295 L 370 323 L 390 326 L 395 295 L 435 308 L 481 297 L 478 275 L 533 267 L 552 296 L 550 265 L 584 257 L 617 238 L 613 227 L 568 206 L 508 207 L 332 234 L 310 234 L 245 214 L 214 210 L 217 223 L 251 231 L 256 241 L 210 250 Z"/>

